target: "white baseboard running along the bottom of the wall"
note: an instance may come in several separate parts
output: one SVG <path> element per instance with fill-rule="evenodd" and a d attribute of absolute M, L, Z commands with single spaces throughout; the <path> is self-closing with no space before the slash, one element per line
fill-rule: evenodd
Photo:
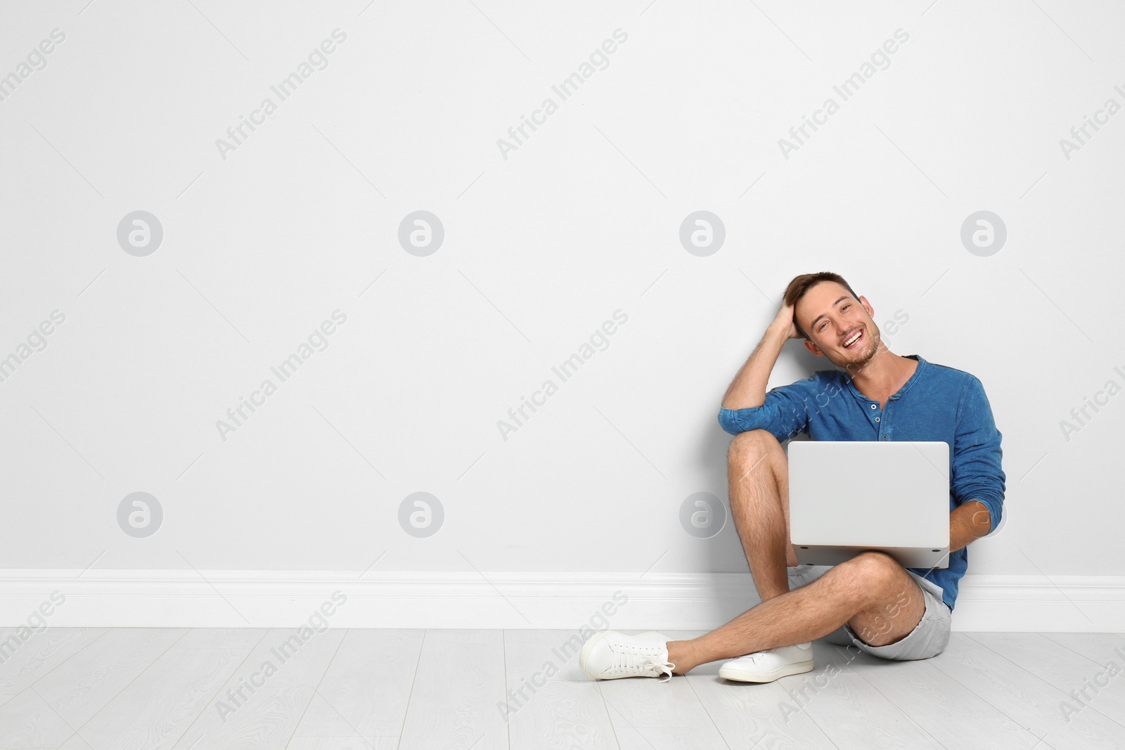
<path fill-rule="evenodd" d="M 758 597 L 748 573 L 0 570 L 4 627 L 40 605 L 62 627 L 296 627 L 325 602 L 333 627 L 708 630 Z M 1125 632 L 1125 576 L 965 576 L 953 629 Z"/>

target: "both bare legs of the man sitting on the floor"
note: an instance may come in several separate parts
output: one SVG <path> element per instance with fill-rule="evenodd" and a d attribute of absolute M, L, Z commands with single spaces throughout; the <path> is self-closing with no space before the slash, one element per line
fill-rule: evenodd
<path fill-rule="evenodd" d="M 818 580 L 789 590 L 789 466 L 777 439 L 764 430 L 735 436 L 728 452 L 730 510 L 762 604 L 691 641 L 668 642 L 668 660 L 684 674 L 716 659 L 804 643 L 845 622 L 871 645 L 907 635 L 921 620 L 921 589 L 897 561 L 867 552 Z"/>

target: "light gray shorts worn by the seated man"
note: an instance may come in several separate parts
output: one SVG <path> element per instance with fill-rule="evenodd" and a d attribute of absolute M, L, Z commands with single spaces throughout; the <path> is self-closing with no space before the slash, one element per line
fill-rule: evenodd
<path fill-rule="evenodd" d="M 810 566 L 800 564 L 786 568 L 789 573 L 789 588 L 800 588 L 811 584 L 832 566 Z M 929 659 L 939 654 L 950 642 L 950 624 L 953 620 L 953 612 L 948 605 L 942 600 L 942 587 L 932 580 L 927 580 L 916 572 L 907 570 L 915 579 L 926 598 L 926 612 L 921 621 L 915 626 L 906 638 L 899 639 L 894 643 L 886 645 L 867 645 L 860 640 L 852 626 L 844 623 L 835 631 L 825 636 L 825 640 L 836 645 L 855 645 L 867 653 L 880 659 L 896 659 L 909 661 L 912 659 Z"/>

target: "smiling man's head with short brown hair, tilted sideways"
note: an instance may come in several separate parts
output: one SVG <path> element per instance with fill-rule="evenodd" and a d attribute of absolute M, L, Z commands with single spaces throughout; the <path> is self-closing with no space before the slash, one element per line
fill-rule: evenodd
<path fill-rule="evenodd" d="M 803 273 L 789 282 L 783 300 L 793 306 L 793 323 L 806 349 L 832 364 L 862 369 L 882 347 L 879 326 L 871 319 L 874 310 L 838 273 Z M 845 346 L 856 333 L 860 338 Z"/>

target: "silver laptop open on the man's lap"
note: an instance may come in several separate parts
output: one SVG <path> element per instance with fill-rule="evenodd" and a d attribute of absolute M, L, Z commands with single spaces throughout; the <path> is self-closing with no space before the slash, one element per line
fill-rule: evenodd
<path fill-rule="evenodd" d="M 950 567 L 950 445 L 791 441 L 790 541 L 801 563 L 880 550 L 906 568 Z"/>

